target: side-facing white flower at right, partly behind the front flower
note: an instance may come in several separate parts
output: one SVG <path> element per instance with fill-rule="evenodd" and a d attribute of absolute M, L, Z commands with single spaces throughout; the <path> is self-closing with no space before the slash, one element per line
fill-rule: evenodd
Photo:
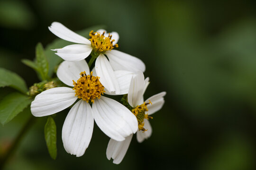
<path fill-rule="evenodd" d="M 131 111 L 137 118 L 137 141 L 139 143 L 143 142 L 152 134 L 152 127 L 148 121 L 152 117 L 149 115 L 160 110 L 165 103 L 164 96 L 166 92 L 155 94 L 143 102 L 143 94 L 148 84 L 149 78 L 147 77 L 144 80 L 143 73 L 138 72 L 137 76 L 132 78 L 128 92 L 128 103 L 133 108 Z M 107 158 L 109 160 L 112 158 L 114 160 L 113 163 L 119 164 L 128 150 L 132 136 L 133 134 L 129 135 L 121 142 L 111 138 L 107 147 Z"/>

